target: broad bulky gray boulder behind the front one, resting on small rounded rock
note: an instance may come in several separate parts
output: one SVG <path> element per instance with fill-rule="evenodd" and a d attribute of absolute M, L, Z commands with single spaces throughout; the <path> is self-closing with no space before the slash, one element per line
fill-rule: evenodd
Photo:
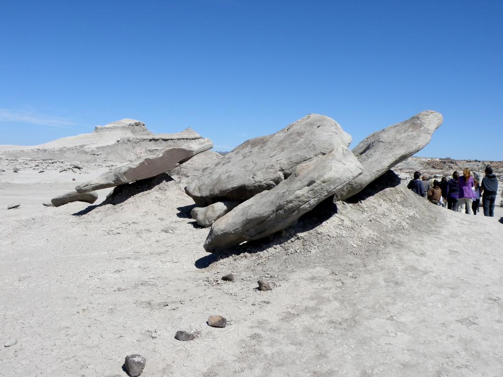
<path fill-rule="evenodd" d="M 244 201 L 271 190 L 304 162 L 351 143 L 333 119 L 309 114 L 275 134 L 250 139 L 189 183 L 185 191 L 197 205 Z"/>

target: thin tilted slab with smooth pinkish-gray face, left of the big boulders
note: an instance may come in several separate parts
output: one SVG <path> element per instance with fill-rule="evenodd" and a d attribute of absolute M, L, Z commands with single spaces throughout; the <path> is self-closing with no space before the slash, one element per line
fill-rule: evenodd
<path fill-rule="evenodd" d="M 87 193 L 150 178 L 165 173 L 179 163 L 188 161 L 196 154 L 212 147 L 211 140 L 197 139 L 179 147 L 166 148 L 145 158 L 138 158 L 130 163 L 111 169 L 98 178 L 75 187 L 75 190 L 78 193 Z"/>

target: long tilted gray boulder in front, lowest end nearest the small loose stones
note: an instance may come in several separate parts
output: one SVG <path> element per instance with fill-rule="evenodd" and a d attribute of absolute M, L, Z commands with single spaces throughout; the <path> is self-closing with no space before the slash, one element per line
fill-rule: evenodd
<path fill-rule="evenodd" d="M 224 251 L 295 224 L 300 216 L 361 173 L 362 166 L 344 146 L 305 162 L 274 189 L 255 195 L 215 221 L 204 248 L 209 252 Z"/>

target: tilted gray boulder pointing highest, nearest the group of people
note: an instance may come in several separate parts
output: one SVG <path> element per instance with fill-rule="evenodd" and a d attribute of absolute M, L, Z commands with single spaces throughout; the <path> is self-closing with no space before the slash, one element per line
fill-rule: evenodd
<path fill-rule="evenodd" d="M 334 201 L 358 194 L 394 165 L 423 149 L 443 121 L 442 114 L 428 110 L 367 136 L 353 149 L 363 173 L 340 190 Z"/>

